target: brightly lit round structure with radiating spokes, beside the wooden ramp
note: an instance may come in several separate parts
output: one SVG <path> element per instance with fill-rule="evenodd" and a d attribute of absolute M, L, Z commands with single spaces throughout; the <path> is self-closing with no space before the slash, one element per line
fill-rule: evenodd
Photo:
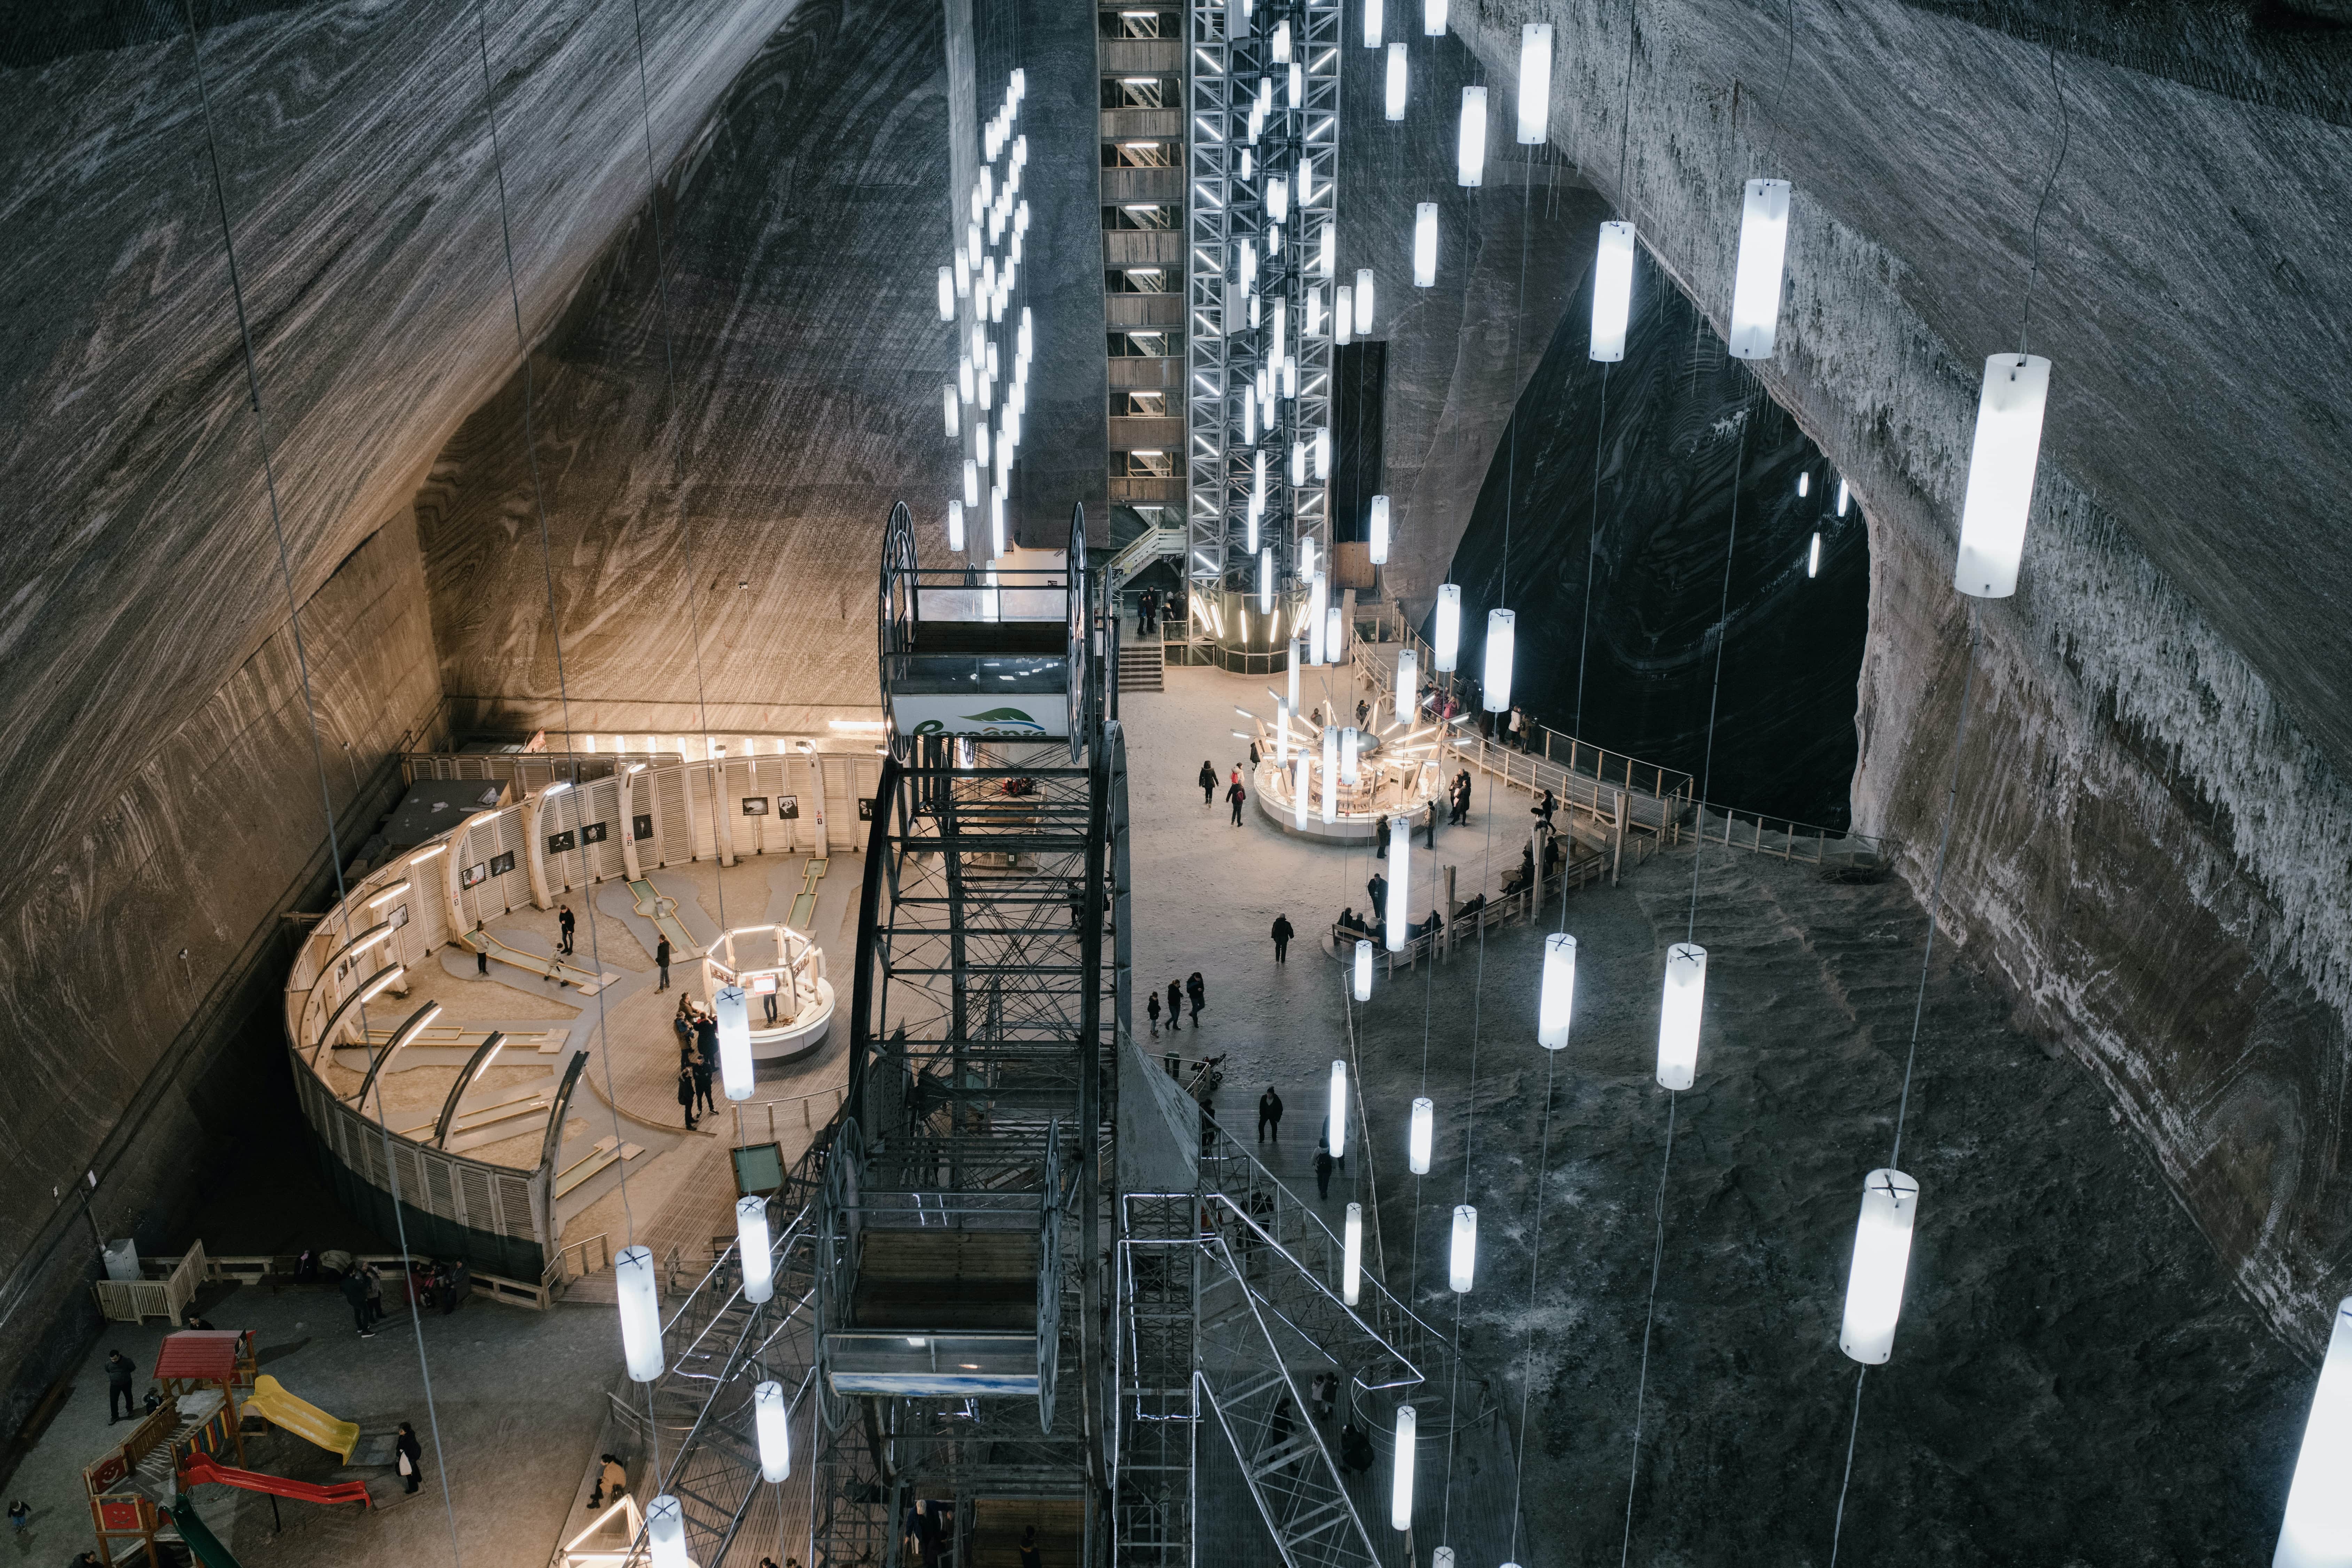
<path fill-rule="evenodd" d="M 1418 820 L 1444 802 L 1442 724 L 1383 724 L 1385 698 L 1357 726 L 1338 724 L 1338 715 L 1327 715 L 1324 708 L 1301 715 L 1272 689 L 1265 696 L 1275 698 L 1272 722 L 1237 708 L 1256 733 L 1232 733 L 1256 741 L 1258 811 L 1284 832 L 1371 844 L 1388 818 Z"/>

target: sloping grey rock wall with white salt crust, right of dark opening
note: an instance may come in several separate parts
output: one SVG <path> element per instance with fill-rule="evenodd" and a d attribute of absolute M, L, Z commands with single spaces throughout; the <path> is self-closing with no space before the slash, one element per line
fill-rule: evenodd
<path fill-rule="evenodd" d="M 2347 132 L 2065 47 L 2060 129 L 2049 35 L 1891 0 L 1649 2 L 1632 35 L 1628 7 L 1536 14 L 1571 40 L 1555 141 L 1717 324 L 1738 183 L 1797 181 L 1764 374 L 1870 522 L 1853 811 L 1907 842 L 1922 893 L 1969 646 L 1950 559 L 1976 386 L 2018 341 L 2065 136 L 2032 313 L 2058 364 L 2034 534 L 2023 592 L 1983 611 L 1943 919 L 2317 1349 L 2345 1225 L 2352 658 L 2331 604 L 2352 552 L 2331 454 L 2352 400 L 2340 322 L 2312 306 L 2352 296 L 2321 240 Z M 1463 24 L 1505 92 L 1526 16 Z"/>

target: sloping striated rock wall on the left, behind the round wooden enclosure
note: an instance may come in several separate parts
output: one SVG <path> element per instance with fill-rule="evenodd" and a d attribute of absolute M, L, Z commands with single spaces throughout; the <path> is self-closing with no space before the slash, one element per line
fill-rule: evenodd
<path fill-rule="evenodd" d="M 515 360 L 485 42 L 536 334 L 644 197 L 635 31 L 583 0 L 247 9 L 202 68 L 348 853 L 435 724 L 409 496 Z M 786 9 L 649 9 L 656 160 Z M 87 1331 L 73 1182 L 99 1173 L 111 1234 L 165 1239 L 275 1058 L 242 1020 L 329 853 L 198 54 L 167 26 L 7 40 L 0 1429 Z"/>

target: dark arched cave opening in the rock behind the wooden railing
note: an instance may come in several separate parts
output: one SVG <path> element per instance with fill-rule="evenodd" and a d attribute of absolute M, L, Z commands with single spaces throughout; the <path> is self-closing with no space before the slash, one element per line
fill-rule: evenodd
<path fill-rule="evenodd" d="M 1590 327 L 1588 266 L 1454 550 L 1463 672 L 1486 611 L 1508 607 L 1512 696 L 1536 722 L 1705 776 L 1712 802 L 1846 827 L 1870 628 L 1860 508 L 1835 515 L 1830 461 L 1646 252 L 1625 360 L 1590 360 Z"/>

